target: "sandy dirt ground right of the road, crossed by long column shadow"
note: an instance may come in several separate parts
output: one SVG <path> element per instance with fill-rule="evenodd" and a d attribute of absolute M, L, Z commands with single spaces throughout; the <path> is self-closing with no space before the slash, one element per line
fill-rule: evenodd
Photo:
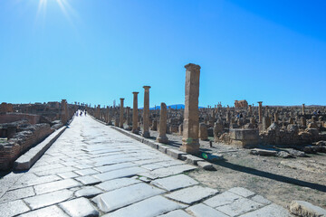
<path fill-rule="evenodd" d="M 156 137 L 152 131 L 151 136 Z M 170 147 L 178 148 L 181 137 L 168 135 Z M 301 200 L 326 208 L 326 154 L 282 158 L 254 156 L 249 149 L 224 144 L 200 142 L 203 150 L 222 154 L 224 161 L 215 164 L 216 171 L 199 170 L 188 175 L 220 192 L 241 186 L 287 207 Z"/>

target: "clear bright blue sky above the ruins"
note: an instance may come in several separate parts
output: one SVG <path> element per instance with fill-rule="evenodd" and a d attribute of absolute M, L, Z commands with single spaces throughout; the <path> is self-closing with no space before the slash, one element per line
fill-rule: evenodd
<path fill-rule="evenodd" d="M 201 106 L 326 105 L 325 1 L 40 1 L 0 1 L 0 101 L 184 103 L 192 62 Z"/>

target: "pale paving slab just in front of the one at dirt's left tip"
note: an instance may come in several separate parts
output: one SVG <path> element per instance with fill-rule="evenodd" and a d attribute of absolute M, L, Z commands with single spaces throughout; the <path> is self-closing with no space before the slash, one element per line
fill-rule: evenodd
<path fill-rule="evenodd" d="M 218 193 L 216 189 L 202 186 L 193 186 L 178 190 L 173 193 L 168 193 L 166 196 L 177 202 L 192 204 L 216 193 Z"/>

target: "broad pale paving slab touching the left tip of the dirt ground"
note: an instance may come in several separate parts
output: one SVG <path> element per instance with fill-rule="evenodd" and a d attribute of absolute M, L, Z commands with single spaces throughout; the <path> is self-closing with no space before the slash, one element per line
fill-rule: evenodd
<path fill-rule="evenodd" d="M 168 191 L 177 190 L 179 188 L 188 187 L 198 184 L 198 182 L 187 175 L 173 175 L 167 178 L 157 179 L 151 182 L 159 188 L 166 189 Z"/>

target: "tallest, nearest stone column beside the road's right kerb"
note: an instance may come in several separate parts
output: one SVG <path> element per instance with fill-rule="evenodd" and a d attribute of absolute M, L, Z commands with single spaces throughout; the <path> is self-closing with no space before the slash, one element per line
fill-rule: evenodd
<path fill-rule="evenodd" d="M 198 97 L 200 66 L 189 63 L 186 68 L 185 111 L 183 122 L 183 137 L 180 150 L 189 154 L 199 153 L 198 139 Z"/>

